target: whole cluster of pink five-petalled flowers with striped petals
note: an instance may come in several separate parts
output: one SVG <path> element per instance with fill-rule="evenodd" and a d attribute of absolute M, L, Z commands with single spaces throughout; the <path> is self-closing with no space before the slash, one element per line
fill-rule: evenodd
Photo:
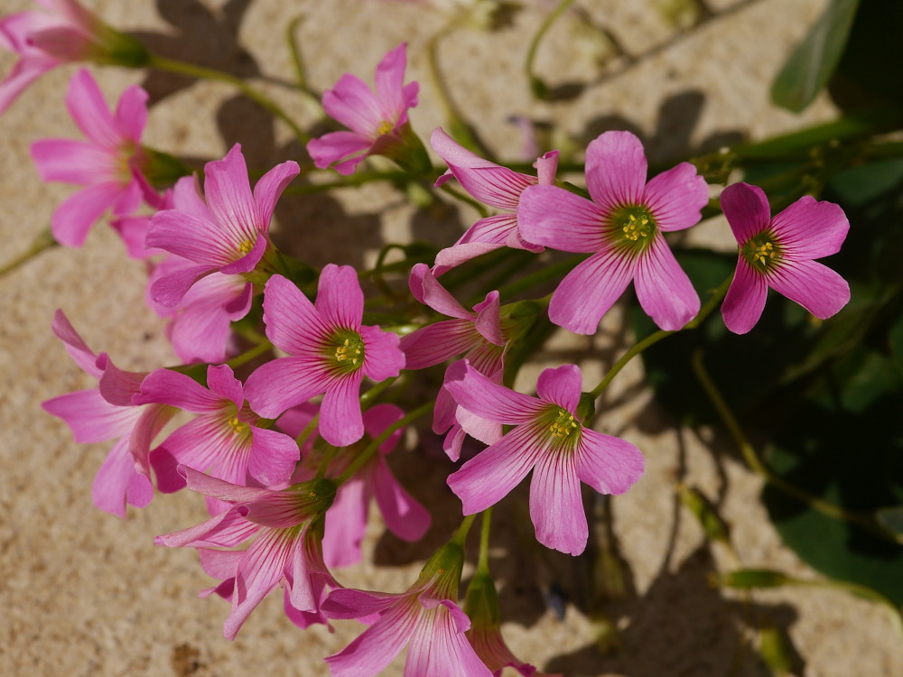
<path fill-rule="evenodd" d="M 29 79 L 63 61 L 125 59 L 131 39 L 73 0 L 42 5 L 56 14 L 0 23 L 5 46 L 20 55 L 0 86 L 0 110 Z M 590 534 L 582 485 L 624 494 L 642 478 L 645 461 L 633 443 L 600 431 L 607 423 L 597 420 L 595 401 L 607 382 L 584 391 L 580 367 L 562 364 L 546 368 L 531 388 L 535 395 L 526 394 L 512 386 L 517 369 L 552 325 L 595 334 L 630 283 L 660 329 L 704 320 L 700 295 L 666 238 L 703 218 L 710 186 L 690 162 L 648 179 L 640 140 L 617 131 L 586 148 L 585 190 L 556 180 L 557 151 L 536 160 L 535 175 L 521 173 L 442 128 L 431 135 L 448 167 L 440 175 L 408 117 L 419 86 L 405 84 L 406 63 L 405 44 L 389 51 L 377 65 L 375 89 L 344 75 L 323 95 L 323 107 L 349 131 L 323 134 L 307 150 L 315 167 L 344 175 L 383 155 L 420 179 L 429 176 L 435 188 L 450 190 L 456 180 L 497 210 L 429 260 L 411 256 L 396 265 L 410 294 L 382 279 L 382 259 L 375 271 L 333 263 L 316 271 L 279 251 L 271 222 L 302 172 L 298 162 L 257 174 L 252 189 L 234 144 L 203 166 L 202 181 L 185 175 L 158 192 L 148 178 L 156 155 L 141 145 L 146 93 L 127 88 L 111 112 L 88 70 L 78 70 L 66 106 L 88 140 L 33 145 L 44 181 L 82 187 L 56 210 L 53 234 L 63 245 L 82 246 L 88 229 L 112 211 L 129 255 L 148 267 L 148 304 L 168 321 L 182 362 L 123 371 L 90 350 L 60 311 L 54 333 L 98 386 L 44 408 L 76 441 L 116 440 L 94 483 L 100 509 L 125 516 L 126 505 L 148 505 L 154 488 L 205 496 L 208 518 L 156 543 L 197 550 L 203 570 L 219 581 L 202 595 L 231 604 L 228 639 L 281 586 L 297 626 L 368 623 L 326 659 L 333 675 L 376 674 L 405 645 L 405 674 L 485 676 L 505 667 L 538 674 L 500 635 L 488 570 L 471 584 L 467 613 L 458 605 L 471 515 L 532 475 L 536 541 L 579 555 Z M 742 182 L 724 188 L 719 203 L 738 243 L 721 306 L 728 329 L 753 329 L 768 287 L 822 319 L 849 301 L 842 277 L 815 262 L 837 252 L 846 235 L 838 206 L 804 197 L 772 217 L 764 191 Z M 554 267 L 547 250 L 581 256 Z M 529 275 L 518 277 L 515 289 L 468 287 L 477 277 L 470 266 L 487 255 L 516 263 L 530 257 L 530 275 L 549 290 L 554 283 L 554 291 L 530 297 L 539 285 L 524 283 Z M 379 298 L 367 298 L 363 282 L 371 278 L 386 287 Z M 444 373 L 431 381 L 435 366 Z M 418 373 L 426 375 L 425 389 L 414 388 Z M 405 411 L 411 394 L 424 402 Z M 419 540 L 430 529 L 414 487 L 403 486 L 386 458 L 405 426 L 428 413 L 449 459 L 460 463 L 446 481 L 461 501 L 461 530 L 405 592 L 345 588 L 332 570 L 362 559 L 371 503 L 402 539 Z M 164 432 L 177 414 L 181 424 Z M 468 437 L 473 442 L 465 446 Z M 401 462 L 403 453 L 393 460 Z"/>

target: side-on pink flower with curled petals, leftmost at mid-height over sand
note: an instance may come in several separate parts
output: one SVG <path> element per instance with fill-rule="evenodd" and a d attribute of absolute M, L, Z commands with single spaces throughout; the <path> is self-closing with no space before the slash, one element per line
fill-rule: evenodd
<path fill-rule="evenodd" d="M 163 404 L 132 406 L 144 374 L 117 369 L 106 353 L 96 355 L 62 311 L 53 317 L 53 333 L 75 363 L 98 379 L 97 388 L 54 397 L 41 405 L 69 425 L 81 443 L 116 440 L 94 478 L 94 505 L 126 516 L 126 503 L 144 507 L 154 497 L 147 457 L 151 442 L 176 413 Z"/>

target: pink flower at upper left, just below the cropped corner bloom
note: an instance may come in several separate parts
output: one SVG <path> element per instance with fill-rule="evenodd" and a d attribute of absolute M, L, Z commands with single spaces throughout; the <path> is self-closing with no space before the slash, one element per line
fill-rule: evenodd
<path fill-rule="evenodd" d="M 146 104 L 147 92 L 132 86 L 111 114 L 88 70 L 72 76 L 66 107 L 88 141 L 44 139 L 32 144 L 32 158 L 43 181 L 85 187 L 53 212 L 51 228 L 61 245 L 82 246 L 88 229 L 107 209 L 124 217 L 138 209 L 143 197 L 159 199 L 141 172 Z"/>

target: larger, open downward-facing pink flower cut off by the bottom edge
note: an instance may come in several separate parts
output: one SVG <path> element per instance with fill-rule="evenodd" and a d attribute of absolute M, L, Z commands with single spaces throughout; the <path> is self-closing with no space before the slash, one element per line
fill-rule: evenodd
<path fill-rule="evenodd" d="M 406 675 L 491 677 L 464 635 L 470 619 L 454 602 L 462 559 L 461 546 L 445 545 L 401 594 L 333 590 L 323 603 L 326 617 L 369 622 L 378 615 L 357 639 L 326 659 L 333 677 L 376 675 L 405 645 Z"/>

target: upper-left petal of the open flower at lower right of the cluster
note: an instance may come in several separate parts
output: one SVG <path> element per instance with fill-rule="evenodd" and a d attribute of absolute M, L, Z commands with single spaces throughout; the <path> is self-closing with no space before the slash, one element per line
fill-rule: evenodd
<path fill-rule="evenodd" d="M 464 409 L 497 423 L 526 423 L 545 407 L 535 397 L 493 383 L 466 361 L 449 366 L 444 385 Z"/>

